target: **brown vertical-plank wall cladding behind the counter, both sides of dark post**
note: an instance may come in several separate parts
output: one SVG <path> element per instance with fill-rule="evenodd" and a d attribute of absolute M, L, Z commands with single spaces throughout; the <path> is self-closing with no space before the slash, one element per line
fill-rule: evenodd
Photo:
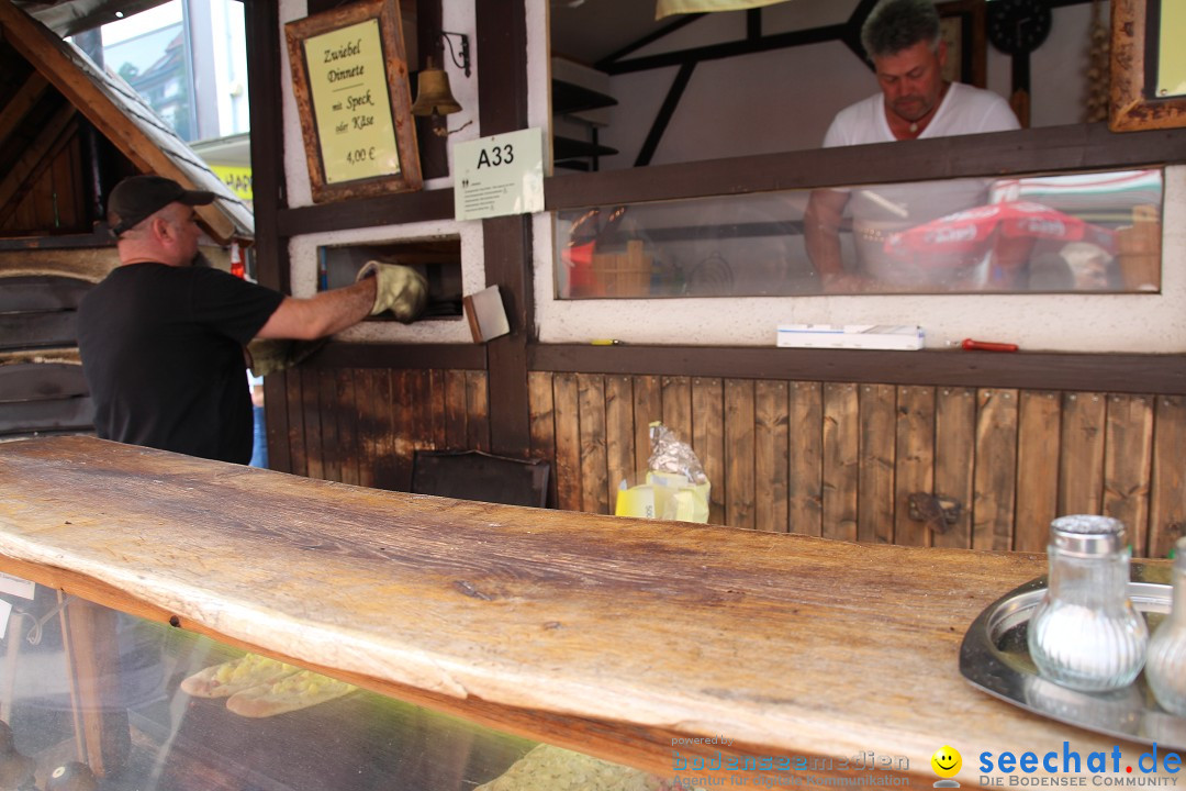
<path fill-rule="evenodd" d="M 489 448 L 483 371 L 285 376 L 269 409 L 286 412 L 292 472 L 406 490 L 415 451 Z M 704 466 L 714 524 L 1044 551 L 1054 516 L 1093 512 L 1161 557 L 1186 525 L 1179 396 L 547 371 L 528 390 L 530 452 L 563 510 L 612 512 L 662 421 Z M 918 492 L 961 508 L 932 528 L 911 515 Z"/>

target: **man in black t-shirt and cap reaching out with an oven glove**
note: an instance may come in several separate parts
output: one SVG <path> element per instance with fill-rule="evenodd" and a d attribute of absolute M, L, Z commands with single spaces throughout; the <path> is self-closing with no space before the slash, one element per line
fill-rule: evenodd
<path fill-rule="evenodd" d="M 78 308 L 78 350 L 98 436 L 247 464 L 249 342 L 312 340 L 387 310 L 410 321 L 427 286 L 407 267 L 371 262 L 351 286 L 298 299 L 193 266 L 193 208 L 213 199 L 157 176 L 116 185 L 107 218 L 120 266 Z"/>

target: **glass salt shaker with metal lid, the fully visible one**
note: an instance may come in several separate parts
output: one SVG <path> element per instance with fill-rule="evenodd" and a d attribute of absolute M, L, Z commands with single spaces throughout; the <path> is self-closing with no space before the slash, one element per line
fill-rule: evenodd
<path fill-rule="evenodd" d="M 1128 598 L 1124 524 L 1107 516 L 1063 516 L 1050 524 L 1046 595 L 1029 620 L 1038 672 L 1085 691 L 1120 689 L 1144 663 L 1149 630 Z"/>

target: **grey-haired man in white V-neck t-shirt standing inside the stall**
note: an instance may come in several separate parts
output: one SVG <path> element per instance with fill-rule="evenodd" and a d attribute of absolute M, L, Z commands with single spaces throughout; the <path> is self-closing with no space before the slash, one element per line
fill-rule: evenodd
<path fill-rule="evenodd" d="M 1019 128 L 1008 103 L 996 94 L 943 79 L 946 44 L 931 0 L 881 0 L 861 27 L 881 93 L 836 114 L 824 147 L 1003 132 Z M 833 292 L 917 289 L 933 285 L 936 270 L 890 260 L 888 234 L 984 203 L 978 179 L 816 190 L 803 218 L 808 255 L 823 287 Z M 852 203 L 850 203 L 852 202 Z M 853 215 L 857 272 L 846 272 L 840 224 Z"/>

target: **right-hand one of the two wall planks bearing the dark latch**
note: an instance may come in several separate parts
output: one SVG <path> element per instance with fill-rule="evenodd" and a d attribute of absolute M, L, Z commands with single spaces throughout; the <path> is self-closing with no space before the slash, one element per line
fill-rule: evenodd
<path fill-rule="evenodd" d="M 971 547 L 973 471 L 976 452 L 976 391 L 938 388 L 935 393 L 935 495 L 959 503 L 955 524 L 931 534 L 932 547 Z"/>

